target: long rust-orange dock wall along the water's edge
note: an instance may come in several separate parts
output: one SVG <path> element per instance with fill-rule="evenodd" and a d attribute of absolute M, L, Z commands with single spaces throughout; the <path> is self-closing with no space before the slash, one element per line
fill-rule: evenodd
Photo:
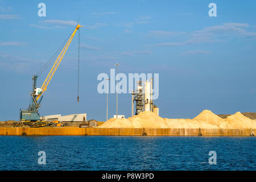
<path fill-rule="evenodd" d="M 122 129 L 78 127 L 0 127 L 0 135 L 250 136 L 256 129 Z"/>

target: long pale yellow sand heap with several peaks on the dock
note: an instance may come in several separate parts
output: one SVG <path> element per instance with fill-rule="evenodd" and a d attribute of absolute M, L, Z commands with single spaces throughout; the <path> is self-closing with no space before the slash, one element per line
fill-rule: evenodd
<path fill-rule="evenodd" d="M 256 121 L 242 115 L 240 112 L 226 119 L 218 117 L 210 110 L 204 110 L 193 119 L 162 118 L 145 111 L 130 118 L 111 118 L 101 128 L 175 128 L 175 129 L 256 129 Z"/>

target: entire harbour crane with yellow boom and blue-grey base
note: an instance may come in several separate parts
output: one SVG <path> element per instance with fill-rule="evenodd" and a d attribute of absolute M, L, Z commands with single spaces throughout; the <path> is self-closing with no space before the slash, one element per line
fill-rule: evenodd
<path fill-rule="evenodd" d="M 27 110 L 20 110 L 20 121 L 23 121 L 25 125 L 35 126 L 35 127 L 47 125 L 46 121 L 40 120 L 40 116 L 38 113 L 40 102 L 42 101 L 42 98 L 43 98 L 42 94 L 46 91 L 49 81 L 51 81 L 52 76 L 56 72 L 56 69 L 59 67 L 60 62 L 63 59 L 63 56 L 65 55 L 69 47 L 69 44 L 71 43 L 73 37 L 75 36 L 76 31 L 79 30 L 80 27 L 82 26 L 80 24 L 77 24 L 75 30 L 72 32 L 67 43 L 65 44 L 59 56 L 57 57 L 55 63 L 53 64 L 51 71 L 48 73 L 48 76 L 46 77 L 46 80 L 44 80 L 44 83 L 41 88 L 36 88 L 36 80 L 38 76 L 37 75 L 32 76 L 33 84 L 32 84 L 32 92 L 30 93 L 32 97 L 32 103 Z"/>

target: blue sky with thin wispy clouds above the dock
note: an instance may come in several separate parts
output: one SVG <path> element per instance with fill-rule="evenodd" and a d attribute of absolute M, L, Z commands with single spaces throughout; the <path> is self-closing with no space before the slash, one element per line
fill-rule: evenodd
<path fill-rule="evenodd" d="M 38 4 L 46 4 L 46 17 Z M 217 17 L 209 17 L 209 3 Z M 80 102 L 76 35 L 49 83 L 40 115 L 87 113 L 105 121 L 99 73 L 159 73 L 161 117 L 256 112 L 255 1 L 0 1 L 0 121 L 28 107 L 31 77 L 75 27 L 81 28 Z M 47 72 L 49 68 L 47 69 Z M 38 78 L 40 87 L 47 76 Z M 130 117 L 130 94 L 118 114 Z M 109 117 L 115 94 L 109 94 Z"/>

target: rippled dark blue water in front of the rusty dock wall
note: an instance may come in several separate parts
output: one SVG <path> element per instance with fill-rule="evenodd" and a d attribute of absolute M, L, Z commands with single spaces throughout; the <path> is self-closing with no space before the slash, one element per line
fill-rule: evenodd
<path fill-rule="evenodd" d="M 255 170 L 256 137 L 0 136 L 0 170 Z M 46 152 L 46 165 L 38 152 Z M 209 151 L 217 164 L 210 165 Z"/>

